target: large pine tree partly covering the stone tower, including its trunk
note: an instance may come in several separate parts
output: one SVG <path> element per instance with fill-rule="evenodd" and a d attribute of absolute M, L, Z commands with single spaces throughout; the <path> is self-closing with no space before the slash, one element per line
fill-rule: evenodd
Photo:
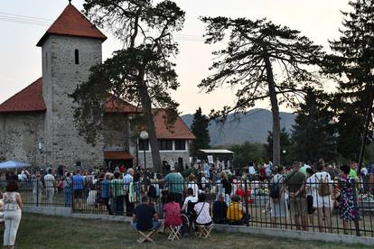
<path fill-rule="evenodd" d="M 79 133 L 94 143 L 102 130 L 108 93 L 116 108 L 118 99 L 141 107 L 142 125 L 149 134 L 154 170 L 161 172 L 159 143 L 152 107 L 164 108 L 168 127 L 177 118 L 170 95 L 178 88 L 171 57 L 178 52 L 173 32 L 182 30 L 184 12 L 170 0 L 85 0 L 85 14 L 99 27 L 108 28 L 123 42 L 123 49 L 91 69 L 89 81 L 76 89 L 75 119 Z"/>

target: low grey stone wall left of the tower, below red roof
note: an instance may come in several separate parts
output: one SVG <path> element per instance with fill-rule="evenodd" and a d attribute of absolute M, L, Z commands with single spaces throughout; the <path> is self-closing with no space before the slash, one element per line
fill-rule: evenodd
<path fill-rule="evenodd" d="M 43 138 L 44 113 L 0 115 L 0 158 L 41 167 L 44 154 L 38 143 Z"/>

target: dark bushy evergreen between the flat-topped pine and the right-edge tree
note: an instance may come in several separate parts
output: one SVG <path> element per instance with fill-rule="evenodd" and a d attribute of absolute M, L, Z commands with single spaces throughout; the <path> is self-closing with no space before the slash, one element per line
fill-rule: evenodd
<path fill-rule="evenodd" d="M 332 159 L 337 152 L 329 96 L 313 88 L 307 88 L 307 93 L 296 111 L 292 134 L 295 155 L 304 161 Z"/>

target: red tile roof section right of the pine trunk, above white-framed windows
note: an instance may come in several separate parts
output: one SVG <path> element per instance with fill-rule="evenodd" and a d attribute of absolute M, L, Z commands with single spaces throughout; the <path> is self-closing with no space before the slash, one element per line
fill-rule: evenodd
<path fill-rule="evenodd" d="M 164 109 L 153 109 L 154 126 L 156 129 L 156 136 L 159 139 L 186 139 L 194 140 L 196 137 L 192 134 L 187 124 L 184 124 L 180 116 L 177 117 L 175 124 L 171 130 L 168 130 L 165 125 L 166 112 Z"/>

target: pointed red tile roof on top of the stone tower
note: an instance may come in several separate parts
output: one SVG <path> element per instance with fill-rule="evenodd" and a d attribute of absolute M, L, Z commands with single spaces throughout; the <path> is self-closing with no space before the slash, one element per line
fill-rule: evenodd
<path fill-rule="evenodd" d="M 42 39 L 36 46 L 41 47 L 42 43 L 50 34 L 97 38 L 101 39 L 103 42 L 107 40 L 107 36 L 100 32 L 94 24 L 89 22 L 89 19 L 71 4 L 66 6 L 61 15 L 51 24 L 51 27 L 44 33 Z"/>

